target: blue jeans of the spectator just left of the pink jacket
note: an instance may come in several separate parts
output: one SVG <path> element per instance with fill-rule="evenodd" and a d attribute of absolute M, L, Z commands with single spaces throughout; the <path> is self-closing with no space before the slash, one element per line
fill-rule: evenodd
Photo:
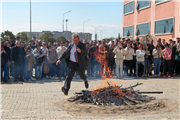
<path fill-rule="evenodd" d="M 161 67 L 161 58 L 154 58 L 154 75 L 159 75 L 160 67 Z"/>

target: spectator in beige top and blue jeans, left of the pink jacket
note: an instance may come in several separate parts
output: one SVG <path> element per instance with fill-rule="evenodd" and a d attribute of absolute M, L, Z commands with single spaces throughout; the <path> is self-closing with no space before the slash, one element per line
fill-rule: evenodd
<path fill-rule="evenodd" d="M 161 62 L 162 62 L 162 49 L 160 47 L 160 45 L 156 45 L 156 48 L 153 50 L 153 62 L 154 62 L 154 76 L 155 77 L 160 77 L 159 75 L 159 71 L 160 71 L 160 67 L 161 67 Z"/>

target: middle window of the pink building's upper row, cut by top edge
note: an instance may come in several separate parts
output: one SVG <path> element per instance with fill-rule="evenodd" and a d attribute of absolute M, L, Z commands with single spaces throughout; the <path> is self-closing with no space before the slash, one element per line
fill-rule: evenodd
<path fill-rule="evenodd" d="M 136 10 L 150 7 L 150 0 L 137 0 Z"/>

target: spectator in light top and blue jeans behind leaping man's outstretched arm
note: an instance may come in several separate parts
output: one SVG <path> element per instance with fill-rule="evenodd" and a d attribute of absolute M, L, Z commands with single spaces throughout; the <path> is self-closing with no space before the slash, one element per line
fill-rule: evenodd
<path fill-rule="evenodd" d="M 58 55 L 58 59 L 60 59 L 63 55 L 63 53 L 66 51 L 67 47 L 65 47 L 65 42 L 62 42 L 62 45 L 59 46 L 56 49 L 57 55 Z M 66 64 L 65 64 L 65 60 L 63 59 L 61 61 L 60 64 L 57 65 L 57 77 L 59 77 L 59 79 L 65 79 L 66 77 Z"/>

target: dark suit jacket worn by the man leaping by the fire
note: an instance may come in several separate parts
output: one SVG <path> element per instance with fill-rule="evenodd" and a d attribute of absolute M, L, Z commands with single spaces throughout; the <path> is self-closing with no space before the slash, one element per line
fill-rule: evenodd
<path fill-rule="evenodd" d="M 60 58 L 60 60 L 65 59 L 66 62 L 66 66 L 69 66 L 69 59 L 70 59 L 70 55 L 71 55 L 71 49 L 73 47 L 74 43 L 69 44 L 67 50 L 63 53 L 62 57 Z M 77 52 L 77 59 L 78 59 L 78 64 L 80 67 L 86 67 L 87 66 L 87 60 L 85 59 L 86 56 L 86 45 L 82 42 L 79 42 L 77 47 L 79 49 L 81 49 L 81 53 Z"/>

